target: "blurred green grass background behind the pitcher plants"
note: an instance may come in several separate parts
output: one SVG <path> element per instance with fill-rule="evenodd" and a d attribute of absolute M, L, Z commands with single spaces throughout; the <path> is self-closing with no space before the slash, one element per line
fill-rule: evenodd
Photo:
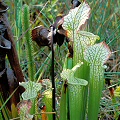
<path fill-rule="evenodd" d="M 21 2 L 22 1 L 22 2 Z M 86 0 L 91 7 L 91 16 L 88 21 L 87 30 L 100 36 L 100 41 L 105 41 L 114 54 L 107 61 L 105 79 L 111 81 L 111 86 L 104 87 L 99 117 L 102 120 L 113 119 L 115 106 L 120 107 L 120 98 L 114 104 L 110 97 L 108 87 L 117 88 L 120 84 L 120 1 L 119 0 Z M 26 52 L 26 41 L 22 25 L 22 12 L 24 4 L 30 8 L 30 30 L 36 26 L 44 25 L 49 28 L 56 20 L 58 14 L 67 14 L 71 8 L 70 0 L 6 0 L 9 6 L 8 18 L 14 34 L 16 49 L 18 51 L 19 61 L 24 73 L 25 79 L 28 75 L 28 59 Z M 19 3 L 19 5 L 17 5 Z M 19 26 L 20 25 L 20 26 Z M 39 47 L 33 42 L 33 63 L 35 67 L 34 80 L 51 78 L 51 51 L 46 47 Z M 60 73 L 63 68 L 67 44 L 61 47 L 56 46 L 55 50 L 55 80 L 57 87 L 57 108 L 59 109 L 59 96 L 61 92 Z"/>

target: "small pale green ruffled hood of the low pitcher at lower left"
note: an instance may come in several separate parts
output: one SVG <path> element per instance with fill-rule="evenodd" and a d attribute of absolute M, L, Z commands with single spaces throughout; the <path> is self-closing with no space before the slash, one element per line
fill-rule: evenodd
<path fill-rule="evenodd" d="M 42 88 L 40 83 L 35 83 L 32 81 L 21 82 L 19 85 L 25 88 L 25 92 L 22 93 L 22 98 L 24 100 L 36 98 L 37 92 Z"/>

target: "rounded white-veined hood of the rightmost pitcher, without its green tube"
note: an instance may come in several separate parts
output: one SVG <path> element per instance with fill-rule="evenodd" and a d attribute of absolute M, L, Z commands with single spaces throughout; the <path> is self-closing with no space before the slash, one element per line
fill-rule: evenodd
<path fill-rule="evenodd" d="M 84 52 L 85 60 L 94 65 L 103 65 L 110 55 L 111 51 L 105 42 L 90 46 Z"/>

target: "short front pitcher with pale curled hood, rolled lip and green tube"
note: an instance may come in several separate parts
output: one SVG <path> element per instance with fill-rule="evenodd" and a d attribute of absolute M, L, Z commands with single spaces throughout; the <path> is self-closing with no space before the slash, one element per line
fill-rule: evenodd
<path fill-rule="evenodd" d="M 61 73 L 61 77 L 65 80 L 67 80 L 68 83 L 68 88 L 65 90 L 65 84 L 63 86 L 62 91 L 62 99 L 61 99 L 61 120 L 67 119 L 67 112 L 70 111 L 70 119 L 83 119 L 83 112 L 84 111 L 84 94 L 82 95 L 82 91 L 85 90 L 85 86 L 88 84 L 86 80 L 76 78 L 74 76 L 75 71 L 81 66 L 83 63 L 78 63 L 76 66 L 74 66 L 71 70 L 70 69 L 65 69 Z M 66 86 L 67 87 L 67 86 Z M 67 93 L 69 94 L 69 97 L 67 98 Z M 68 99 L 68 101 L 67 101 Z M 79 100 L 79 102 L 77 102 Z M 69 110 L 68 109 L 68 102 L 69 102 Z M 64 106 L 63 106 L 63 105 Z M 64 111 L 65 109 L 65 111 Z M 65 113 L 64 113 L 65 112 Z"/>

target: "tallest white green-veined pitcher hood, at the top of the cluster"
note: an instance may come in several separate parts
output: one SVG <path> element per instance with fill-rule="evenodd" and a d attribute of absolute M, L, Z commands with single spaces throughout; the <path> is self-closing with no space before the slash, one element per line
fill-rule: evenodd
<path fill-rule="evenodd" d="M 89 19 L 89 15 L 90 7 L 86 2 L 83 2 L 80 6 L 71 9 L 69 14 L 63 18 L 62 27 L 68 31 L 69 35 L 72 35 L 73 31 L 81 30 Z"/>

